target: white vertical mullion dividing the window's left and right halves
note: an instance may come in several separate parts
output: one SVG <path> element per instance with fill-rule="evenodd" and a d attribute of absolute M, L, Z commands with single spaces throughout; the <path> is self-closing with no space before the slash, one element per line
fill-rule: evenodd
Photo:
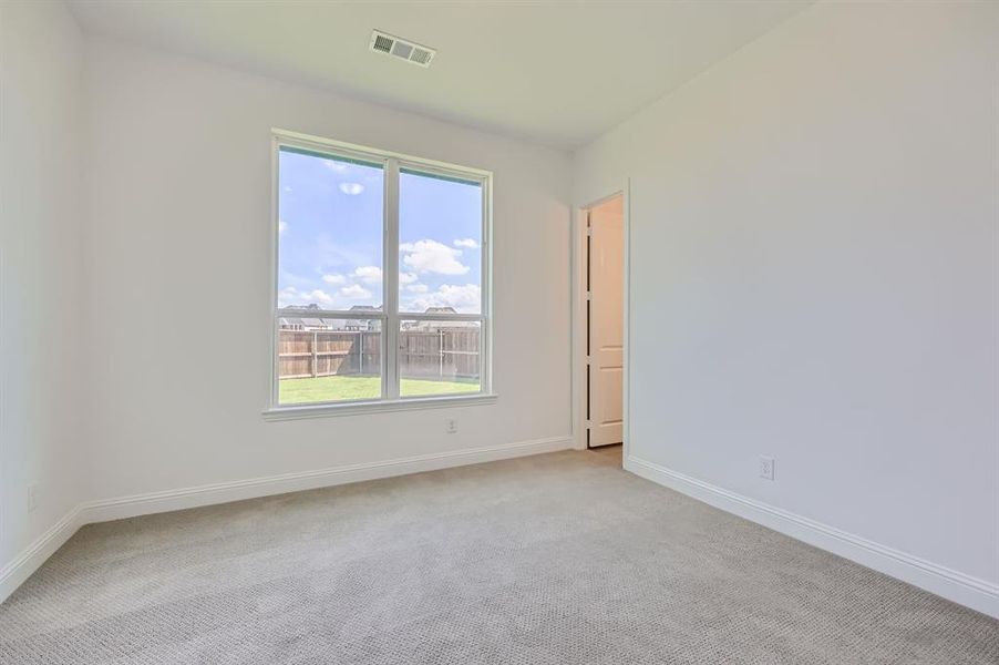
<path fill-rule="evenodd" d="M 384 279 L 382 280 L 385 310 L 385 399 L 399 399 L 399 160 L 385 163 L 385 245 Z"/>

